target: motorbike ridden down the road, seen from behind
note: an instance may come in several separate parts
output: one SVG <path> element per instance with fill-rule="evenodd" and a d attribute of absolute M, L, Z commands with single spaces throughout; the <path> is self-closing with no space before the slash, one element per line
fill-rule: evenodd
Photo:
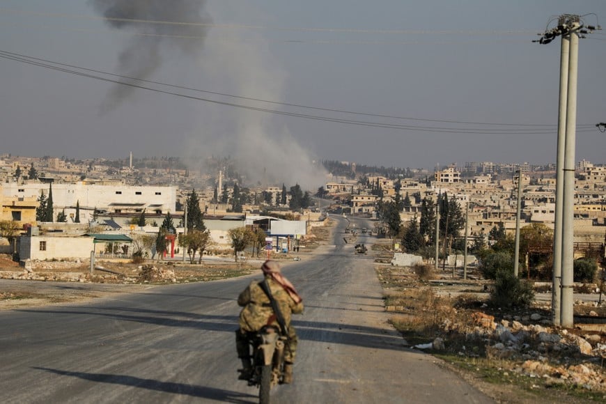
<path fill-rule="evenodd" d="M 259 389 L 259 403 L 270 403 L 270 390 L 281 384 L 284 375 L 284 347 L 288 338 L 277 327 L 263 327 L 250 343 L 253 373 L 249 386 Z"/>

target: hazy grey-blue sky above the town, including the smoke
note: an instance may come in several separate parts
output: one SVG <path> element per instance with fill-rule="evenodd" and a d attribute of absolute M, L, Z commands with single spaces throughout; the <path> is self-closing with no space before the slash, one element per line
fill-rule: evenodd
<path fill-rule="evenodd" d="M 560 40 L 531 41 L 562 13 L 606 1 L 0 0 L 1 52 L 156 90 L 1 58 L 0 153 L 231 155 L 289 183 L 314 158 L 555 162 Z M 576 160 L 603 163 L 606 31 L 578 70 Z"/>

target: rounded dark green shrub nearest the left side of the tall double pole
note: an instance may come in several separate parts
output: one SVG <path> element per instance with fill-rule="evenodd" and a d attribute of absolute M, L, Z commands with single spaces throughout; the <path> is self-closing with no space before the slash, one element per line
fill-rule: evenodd
<path fill-rule="evenodd" d="M 502 270 L 495 276 L 495 286 L 490 292 L 489 304 L 495 308 L 528 308 L 534 301 L 532 283 L 520 281 L 513 270 Z"/>

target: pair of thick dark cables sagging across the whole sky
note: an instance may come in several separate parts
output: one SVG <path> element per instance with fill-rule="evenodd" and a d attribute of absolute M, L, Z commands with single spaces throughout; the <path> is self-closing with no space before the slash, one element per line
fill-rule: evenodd
<path fill-rule="evenodd" d="M 178 97 L 188 98 L 191 100 L 199 100 L 199 101 L 203 101 L 203 102 L 210 102 L 213 104 L 221 104 L 221 105 L 228 106 L 228 107 L 249 109 L 252 111 L 260 111 L 260 112 L 277 114 L 277 115 L 282 115 L 282 116 L 293 116 L 293 117 L 297 117 L 297 118 L 306 118 L 306 119 L 311 119 L 314 121 L 346 123 L 348 125 L 383 127 L 383 128 L 398 129 L 398 130 L 412 130 L 412 131 L 419 131 L 419 132 L 440 132 L 440 133 L 455 133 L 455 134 L 551 134 L 553 132 L 552 130 L 549 130 L 549 128 L 548 128 L 552 125 L 515 125 L 515 124 L 499 124 L 499 123 L 478 123 L 478 122 L 474 123 L 474 122 L 465 122 L 465 121 L 425 120 L 425 119 L 421 119 L 421 118 L 405 118 L 405 117 L 389 116 L 389 115 L 382 115 L 382 114 L 364 114 L 364 113 L 345 111 L 345 110 L 339 110 L 339 109 L 325 109 L 325 108 L 320 108 L 320 107 L 309 107 L 309 106 L 298 105 L 298 104 L 267 101 L 267 100 L 261 100 L 258 98 L 246 98 L 246 97 L 240 97 L 237 95 L 229 95 L 229 94 L 225 94 L 225 93 L 203 91 L 203 90 L 199 90 L 196 88 L 190 88 L 190 87 L 185 87 L 185 86 L 175 86 L 175 85 L 171 85 L 171 84 L 164 84 L 159 81 L 150 81 L 150 80 L 144 80 L 144 79 L 137 79 L 134 77 L 115 75 L 113 73 L 103 72 L 101 70 L 80 68 L 75 65 L 68 65 L 65 63 L 47 61 L 45 59 L 33 58 L 30 56 L 25 56 L 22 54 L 15 54 L 13 52 L 7 52 L 7 51 L 2 51 L 2 50 L 0 50 L 0 58 L 18 61 L 21 63 L 27 63 L 30 65 L 36 65 L 38 67 L 48 68 L 48 69 L 56 70 L 56 71 L 60 71 L 60 72 L 66 72 L 66 73 L 69 73 L 72 75 L 78 75 L 78 76 L 87 77 L 90 79 L 107 81 L 107 82 L 111 82 L 111 83 L 115 83 L 115 84 L 121 84 L 124 86 L 130 86 L 133 88 L 141 88 L 141 89 L 145 89 L 148 91 L 155 91 L 157 93 L 164 93 L 167 95 L 175 95 Z M 77 69 L 77 70 L 74 70 L 74 69 Z M 84 70 L 84 71 L 78 71 L 78 70 Z M 87 73 L 87 72 L 89 72 L 89 73 Z M 251 101 L 256 101 L 256 102 L 267 102 L 267 103 L 272 103 L 272 104 L 280 104 L 280 105 L 283 105 L 286 107 L 299 107 L 299 108 L 305 108 L 305 109 L 315 109 L 315 110 L 320 110 L 320 111 L 337 112 L 337 113 L 343 113 L 343 114 L 355 114 L 355 115 L 359 115 L 359 116 L 374 116 L 377 118 L 409 119 L 409 120 L 414 120 L 414 121 L 429 121 L 429 122 L 437 122 L 437 123 L 455 123 L 455 124 L 467 124 L 467 125 L 507 125 L 507 126 L 513 125 L 513 126 L 523 126 L 523 127 L 531 127 L 531 128 L 529 128 L 529 129 L 522 129 L 522 128 L 481 129 L 481 128 L 465 128 L 465 127 L 430 127 L 430 126 L 418 126 L 418 125 L 403 125 L 403 124 L 387 123 L 387 122 L 383 123 L 383 122 L 373 122 L 373 121 L 358 121 L 358 120 L 337 118 L 337 117 L 331 117 L 331 116 L 316 116 L 316 115 L 310 115 L 310 114 L 302 114 L 300 112 L 281 111 L 281 110 L 277 110 L 277 109 L 267 109 L 267 108 L 262 108 L 262 107 L 254 107 L 251 105 L 235 104 L 233 102 L 224 102 L 224 101 L 219 101 L 219 100 L 212 100 L 209 98 L 195 97 L 193 95 L 176 93 L 173 91 L 162 90 L 160 88 L 153 88 L 153 87 L 143 86 L 140 84 L 134 84 L 133 82 L 109 79 L 107 77 L 93 75 L 90 72 L 98 73 L 101 75 L 120 77 L 120 78 L 131 80 L 131 81 L 141 81 L 143 83 L 150 83 L 150 84 L 156 84 L 156 85 L 161 85 L 161 86 L 180 88 L 182 90 L 187 90 L 187 91 L 198 91 L 198 92 L 203 92 L 203 93 L 211 93 L 213 95 L 222 95 L 225 97 L 238 98 L 238 99 L 242 99 L 242 100 L 251 100 Z M 580 127 L 582 127 L 582 128 L 584 128 L 584 126 L 585 125 L 580 125 Z M 591 125 L 591 126 L 593 126 L 593 125 Z M 533 127 L 535 127 L 535 128 L 533 128 Z M 589 129 L 581 130 L 581 131 L 589 131 Z"/>

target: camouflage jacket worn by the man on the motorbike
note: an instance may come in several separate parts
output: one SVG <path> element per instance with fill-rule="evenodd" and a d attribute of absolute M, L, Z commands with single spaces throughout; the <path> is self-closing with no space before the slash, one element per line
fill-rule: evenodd
<path fill-rule="evenodd" d="M 295 303 L 293 298 L 286 293 L 286 290 L 270 277 L 267 277 L 267 283 L 269 283 L 274 300 L 276 300 L 282 312 L 286 327 L 289 327 L 291 315 L 293 313 L 303 313 L 303 302 Z M 240 293 L 238 304 L 243 307 L 242 311 L 240 311 L 238 323 L 244 331 L 258 331 L 264 325 L 278 325 L 275 316 L 273 316 L 274 311 L 270 298 L 267 297 L 261 286 L 259 286 L 259 281 L 252 281 Z"/>

